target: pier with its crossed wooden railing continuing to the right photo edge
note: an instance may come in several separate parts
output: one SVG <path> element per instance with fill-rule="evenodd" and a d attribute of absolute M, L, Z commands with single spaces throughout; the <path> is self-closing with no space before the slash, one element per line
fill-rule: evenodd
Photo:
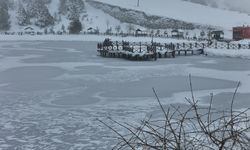
<path fill-rule="evenodd" d="M 134 60 L 156 60 L 157 58 L 174 58 L 176 55 L 204 54 L 205 48 L 213 49 L 249 49 L 250 44 L 235 44 L 226 42 L 183 42 L 183 43 L 156 43 L 156 42 L 127 42 L 109 41 L 97 44 L 100 56 L 119 57 Z"/>

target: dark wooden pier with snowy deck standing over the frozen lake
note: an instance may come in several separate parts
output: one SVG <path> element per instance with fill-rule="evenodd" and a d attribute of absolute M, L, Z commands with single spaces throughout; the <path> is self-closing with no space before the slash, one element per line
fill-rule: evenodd
<path fill-rule="evenodd" d="M 203 54 L 205 44 L 161 44 L 161 43 L 130 43 L 112 42 L 109 40 L 97 44 L 97 52 L 102 57 L 123 58 L 128 60 L 146 61 L 158 58 L 175 58 L 176 56 Z"/>

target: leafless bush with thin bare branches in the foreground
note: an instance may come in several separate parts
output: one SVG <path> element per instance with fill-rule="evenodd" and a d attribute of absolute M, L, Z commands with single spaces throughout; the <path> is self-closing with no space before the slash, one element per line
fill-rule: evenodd
<path fill-rule="evenodd" d="M 191 76 L 191 98 L 186 98 L 188 108 L 171 105 L 164 108 L 156 90 L 153 88 L 156 100 L 164 115 L 162 119 L 154 119 L 152 116 L 143 119 L 139 125 L 121 123 L 109 118 L 113 124 L 126 130 L 122 134 L 111 125 L 99 120 L 111 129 L 118 139 L 114 150 L 249 150 L 249 117 L 244 111 L 233 110 L 235 95 L 240 82 L 234 92 L 229 111 L 212 108 L 213 95 L 208 108 L 198 106 L 194 97 Z"/>

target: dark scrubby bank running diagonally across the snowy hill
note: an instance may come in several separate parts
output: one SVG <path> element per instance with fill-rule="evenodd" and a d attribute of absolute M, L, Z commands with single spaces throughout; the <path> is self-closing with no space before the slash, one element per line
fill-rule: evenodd
<path fill-rule="evenodd" d="M 144 26 L 149 29 L 208 29 L 212 28 L 209 25 L 199 25 L 192 22 L 186 22 L 182 20 L 177 20 L 174 18 L 168 18 L 164 16 L 157 16 L 146 14 L 143 11 L 126 9 L 119 6 L 114 6 L 107 3 L 87 0 L 91 6 L 102 10 L 103 12 L 113 16 L 114 18 L 120 20 L 121 22 L 137 24 Z"/>

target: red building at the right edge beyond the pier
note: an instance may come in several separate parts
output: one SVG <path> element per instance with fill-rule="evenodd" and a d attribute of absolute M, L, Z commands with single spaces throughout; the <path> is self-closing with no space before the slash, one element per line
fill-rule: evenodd
<path fill-rule="evenodd" d="M 250 39 L 250 27 L 234 27 L 233 40 Z"/>

